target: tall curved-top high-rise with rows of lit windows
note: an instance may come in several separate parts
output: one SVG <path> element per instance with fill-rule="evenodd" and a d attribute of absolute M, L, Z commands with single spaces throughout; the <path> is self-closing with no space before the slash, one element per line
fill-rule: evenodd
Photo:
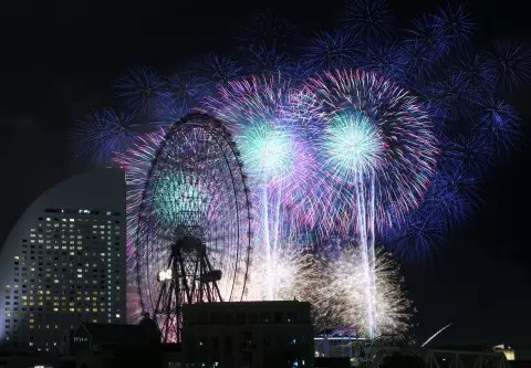
<path fill-rule="evenodd" d="M 0 251 L 0 346 L 63 353 L 81 322 L 125 323 L 125 177 L 74 176 L 41 194 Z"/>

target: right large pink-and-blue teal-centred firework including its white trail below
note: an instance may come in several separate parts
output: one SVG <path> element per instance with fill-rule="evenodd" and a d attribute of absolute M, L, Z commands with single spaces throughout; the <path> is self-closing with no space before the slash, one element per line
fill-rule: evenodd
<path fill-rule="evenodd" d="M 365 320 L 374 336 L 376 225 L 391 227 L 420 203 L 435 174 L 435 133 L 417 99 L 375 73 L 325 73 L 298 98 L 299 108 L 312 112 L 322 176 L 333 183 L 323 224 L 358 239 L 371 301 Z"/>

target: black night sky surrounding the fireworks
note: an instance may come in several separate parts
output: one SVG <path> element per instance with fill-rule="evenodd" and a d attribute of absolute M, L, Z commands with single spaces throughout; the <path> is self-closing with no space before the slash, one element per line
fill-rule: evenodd
<path fill-rule="evenodd" d="M 335 0 L 287 2 L 261 9 L 285 14 L 303 33 L 333 24 L 342 7 Z M 404 2 L 392 1 L 400 22 L 439 3 Z M 136 64 L 171 69 L 230 50 L 238 25 L 260 9 L 251 1 L 45 3 L 0 6 L 0 241 L 39 193 L 81 169 L 71 162 L 66 130 L 91 107 L 113 104 L 110 86 L 121 72 Z M 470 8 L 478 42 L 531 41 L 523 1 L 472 1 Z M 527 125 L 522 149 L 491 172 L 483 203 L 434 259 L 405 266 L 419 340 L 452 322 L 438 344 L 531 345 L 531 107 L 525 95 L 519 103 Z"/>

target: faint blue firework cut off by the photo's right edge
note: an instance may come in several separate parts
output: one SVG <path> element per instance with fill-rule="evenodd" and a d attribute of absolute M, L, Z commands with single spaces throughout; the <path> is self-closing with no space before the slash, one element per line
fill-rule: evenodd
<path fill-rule="evenodd" d="M 510 92 L 530 81 L 531 52 L 523 43 L 498 40 L 487 56 L 496 72 L 496 85 L 502 91 Z"/>

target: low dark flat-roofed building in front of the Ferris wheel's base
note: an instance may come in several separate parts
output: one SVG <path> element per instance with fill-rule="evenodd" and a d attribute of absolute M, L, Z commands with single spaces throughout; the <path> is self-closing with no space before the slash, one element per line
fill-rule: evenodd
<path fill-rule="evenodd" d="M 310 307 L 296 301 L 186 305 L 181 367 L 311 367 Z"/>

